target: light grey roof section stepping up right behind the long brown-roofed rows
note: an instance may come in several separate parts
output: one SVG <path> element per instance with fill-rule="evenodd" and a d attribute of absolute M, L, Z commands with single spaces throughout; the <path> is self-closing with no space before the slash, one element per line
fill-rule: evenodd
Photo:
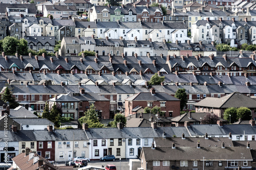
<path fill-rule="evenodd" d="M 203 136 L 205 133 L 208 135 L 227 135 L 219 125 L 190 125 L 187 128 L 191 136 Z"/>

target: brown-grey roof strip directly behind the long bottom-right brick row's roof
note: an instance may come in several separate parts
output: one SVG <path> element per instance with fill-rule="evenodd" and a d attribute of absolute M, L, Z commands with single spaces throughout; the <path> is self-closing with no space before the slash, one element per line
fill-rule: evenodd
<path fill-rule="evenodd" d="M 225 146 L 233 147 L 232 139 L 227 137 L 204 137 L 195 138 L 195 137 L 171 137 L 171 138 L 155 138 L 156 147 L 171 147 L 173 142 L 175 147 L 197 147 L 197 142 L 200 142 L 200 147 L 221 147 L 222 142 L 225 143 Z"/>

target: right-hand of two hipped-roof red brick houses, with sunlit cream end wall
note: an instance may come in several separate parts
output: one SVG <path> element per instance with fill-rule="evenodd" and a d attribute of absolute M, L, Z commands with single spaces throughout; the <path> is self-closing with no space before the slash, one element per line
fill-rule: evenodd
<path fill-rule="evenodd" d="M 175 117 L 180 115 L 180 100 L 164 92 L 156 92 L 155 88 L 151 92 L 140 92 L 125 100 L 125 116 L 133 114 L 132 110 L 137 107 L 155 106 L 161 107 L 165 117 Z"/>

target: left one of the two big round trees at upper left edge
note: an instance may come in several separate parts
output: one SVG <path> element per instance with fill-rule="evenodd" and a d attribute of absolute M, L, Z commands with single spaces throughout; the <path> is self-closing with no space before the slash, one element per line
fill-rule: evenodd
<path fill-rule="evenodd" d="M 15 37 L 7 36 L 3 39 L 3 51 L 6 55 L 14 55 L 18 47 L 19 41 Z"/>

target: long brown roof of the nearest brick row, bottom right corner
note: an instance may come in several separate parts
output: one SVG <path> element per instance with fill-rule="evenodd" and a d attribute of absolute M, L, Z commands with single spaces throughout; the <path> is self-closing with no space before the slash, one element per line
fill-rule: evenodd
<path fill-rule="evenodd" d="M 142 152 L 145 156 L 145 161 L 149 160 L 241 160 L 243 154 L 244 160 L 251 160 L 252 156 L 249 149 L 239 147 L 177 147 L 170 148 L 143 148 Z"/>

